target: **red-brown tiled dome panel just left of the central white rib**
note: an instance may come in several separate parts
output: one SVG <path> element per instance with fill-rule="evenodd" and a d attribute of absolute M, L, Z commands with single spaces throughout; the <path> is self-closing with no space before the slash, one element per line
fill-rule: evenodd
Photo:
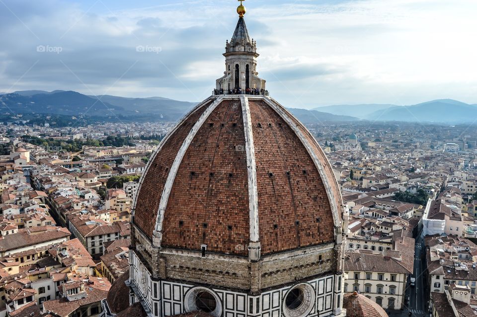
<path fill-rule="evenodd" d="M 240 100 L 224 100 L 197 131 L 179 165 L 164 214 L 162 246 L 200 250 L 207 244 L 208 252 L 247 255 L 244 147 Z M 183 221 L 181 228 L 178 221 Z"/>

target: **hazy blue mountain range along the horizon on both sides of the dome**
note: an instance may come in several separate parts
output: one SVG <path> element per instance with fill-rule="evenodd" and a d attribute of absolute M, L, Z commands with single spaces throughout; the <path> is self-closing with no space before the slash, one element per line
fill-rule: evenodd
<path fill-rule="evenodd" d="M 101 120 L 177 121 L 197 103 L 163 97 L 127 98 L 88 96 L 76 91 L 23 90 L 0 93 L 0 116 L 64 115 Z M 289 108 L 305 124 L 319 122 L 404 121 L 469 123 L 477 118 L 477 105 L 440 99 L 409 106 L 394 104 L 330 105 L 308 109 Z"/>

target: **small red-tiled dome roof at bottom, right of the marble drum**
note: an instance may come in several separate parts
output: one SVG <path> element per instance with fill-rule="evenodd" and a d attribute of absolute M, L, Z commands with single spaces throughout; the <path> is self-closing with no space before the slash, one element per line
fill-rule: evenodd
<path fill-rule="evenodd" d="M 381 306 L 357 292 L 344 295 L 343 308 L 348 317 L 388 317 Z"/>

